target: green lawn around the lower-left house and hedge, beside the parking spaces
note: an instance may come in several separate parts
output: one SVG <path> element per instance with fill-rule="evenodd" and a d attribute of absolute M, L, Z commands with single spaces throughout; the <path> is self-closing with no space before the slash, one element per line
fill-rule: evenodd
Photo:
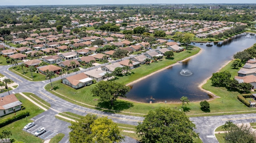
<path fill-rule="evenodd" d="M 27 93 L 25 93 L 27 94 Z M 31 93 L 29 93 L 31 94 Z M 40 139 L 39 137 L 35 137 L 31 133 L 28 133 L 26 131 L 23 131 L 22 128 L 32 120 L 34 116 L 44 112 L 44 110 L 38 108 L 38 106 L 35 106 L 32 102 L 21 96 L 20 94 L 15 94 L 18 100 L 22 102 L 22 106 L 24 106 L 26 109 L 22 111 L 16 112 L 16 114 L 19 114 L 20 112 L 30 112 L 30 116 L 28 118 L 21 119 L 19 121 L 15 121 L 14 123 L 11 123 L 9 125 L 6 125 L 5 127 L 0 128 L 0 132 L 2 130 L 8 130 L 12 132 L 12 136 L 10 136 L 11 139 L 14 139 L 15 141 L 13 143 L 17 143 L 18 141 L 23 141 L 24 143 L 43 143 L 44 140 Z M 34 95 L 35 96 L 35 95 Z M 8 116 L 14 116 L 14 114 L 9 114 Z M 2 117 L 7 118 L 7 116 Z"/>

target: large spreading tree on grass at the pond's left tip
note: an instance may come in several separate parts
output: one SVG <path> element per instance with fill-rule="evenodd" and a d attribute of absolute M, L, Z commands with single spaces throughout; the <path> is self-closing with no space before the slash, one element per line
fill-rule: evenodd
<path fill-rule="evenodd" d="M 91 89 L 93 96 L 97 96 L 101 101 L 109 101 L 111 106 L 118 97 L 126 98 L 125 94 L 130 91 L 130 87 L 120 82 L 100 81 Z"/>

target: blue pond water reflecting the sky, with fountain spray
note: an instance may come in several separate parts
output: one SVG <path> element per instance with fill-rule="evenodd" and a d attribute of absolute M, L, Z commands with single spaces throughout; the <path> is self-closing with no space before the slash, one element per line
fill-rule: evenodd
<path fill-rule="evenodd" d="M 201 54 L 136 82 L 126 96 L 146 103 L 179 102 L 182 96 L 187 96 L 190 101 L 209 99 L 210 96 L 200 90 L 198 85 L 230 61 L 236 52 L 252 46 L 255 39 L 254 35 L 252 38 L 238 35 L 223 42 L 211 42 L 212 47 L 195 43 L 195 46 L 201 47 Z M 192 75 L 183 76 L 180 74 L 182 69 L 189 70 Z"/>

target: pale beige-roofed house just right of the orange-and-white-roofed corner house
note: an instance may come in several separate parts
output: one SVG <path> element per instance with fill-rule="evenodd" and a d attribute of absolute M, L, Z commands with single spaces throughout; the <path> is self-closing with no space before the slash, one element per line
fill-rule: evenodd
<path fill-rule="evenodd" d="M 107 73 L 106 71 L 102 71 L 100 69 L 92 69 L 90 71 L 84 72 L 88 77 L 100 81 L 106 78 L 105 74 Z"/>

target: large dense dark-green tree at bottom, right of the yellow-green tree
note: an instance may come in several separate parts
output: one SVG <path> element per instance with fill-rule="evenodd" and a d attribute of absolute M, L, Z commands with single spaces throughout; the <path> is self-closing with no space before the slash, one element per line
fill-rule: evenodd
<path fill-rule="evenodd" d="M 143 143 L 192 143 L 193 137 L 198 137 L 196 125 L 184 112 L 161 107 L 144 117 L 136 127 Z"/>

